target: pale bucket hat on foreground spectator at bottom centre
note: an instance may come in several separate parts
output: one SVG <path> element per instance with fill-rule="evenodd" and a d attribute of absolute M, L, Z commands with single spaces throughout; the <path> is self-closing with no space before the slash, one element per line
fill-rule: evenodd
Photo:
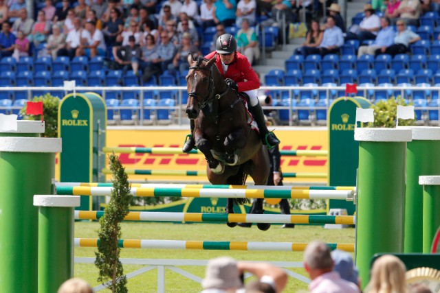
<path fill-rule="evenodd" d="M 231 257 L 211 259 L 206 267 L 205 279 L 201 282 L 204 289 L 238 289 L 241 287 L 236 261 Z"/>

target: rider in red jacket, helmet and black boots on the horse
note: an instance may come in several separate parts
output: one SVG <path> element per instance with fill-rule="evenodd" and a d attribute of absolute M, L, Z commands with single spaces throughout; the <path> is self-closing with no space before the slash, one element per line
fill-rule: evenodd
<path fill-rule="evenodd" d="M 237 93 L 244 92 L 250 99 L 250 110 L 254 116 L 256 124 L 259 126 L 260 137 L 263 143 L 270 148 L 278 145 L 280 141 L 274 132 L 267 130 L 263 109 L 256 96 L 256 89 L 260 87 L 260 81 L 254 69 L 250 65 L 248 58 L 236 51 L 236 40 L 230 34 L 222 34 L 217 38 L 216 51 L 211 52 L 205 58 L 211 59 L 217 54 L 215 64 L 223 78 L 231 89 Z M 194 121 L 190 120 L 191 134 L 185 142 L 183 152 L 190 152 L 195 147 L 195 140 L 192 136 Z"/>

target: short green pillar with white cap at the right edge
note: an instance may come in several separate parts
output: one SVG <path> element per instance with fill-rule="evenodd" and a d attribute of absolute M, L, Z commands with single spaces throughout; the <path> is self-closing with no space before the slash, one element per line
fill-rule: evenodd
<path fill-rule="evenodd" d="M 423 185 L 423 228 L 419 229 L 423 231 L 423 253 L 430 253 L 440 227 L 440 176 L 420 176 L 419 183 Z"/>

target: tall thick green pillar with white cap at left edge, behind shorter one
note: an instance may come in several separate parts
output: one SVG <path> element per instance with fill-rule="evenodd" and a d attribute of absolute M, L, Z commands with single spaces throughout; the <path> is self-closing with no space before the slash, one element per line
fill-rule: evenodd
<path fill-rule="evenodd" d="M 17 121 L 0 133 L 0 288 L 37 292 L 38 209 L 34 194 L 51 194 L 61 139 L 40 138 L 42 121 Z"/>

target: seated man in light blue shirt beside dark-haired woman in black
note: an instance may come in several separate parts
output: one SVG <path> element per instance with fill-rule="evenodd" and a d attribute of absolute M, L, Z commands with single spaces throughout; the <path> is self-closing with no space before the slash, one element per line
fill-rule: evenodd
<path fill-rule="evenodd" d="M 305 56 L 310 54 L 339 54 L 339 48 L 344 45 L 344 36 L 342 30 L 336 26 L 335 18 L 327 16 L 327 29 L 324 31 L 322 41 L 318 47 L 306 47 L 303 53 Z"/>

